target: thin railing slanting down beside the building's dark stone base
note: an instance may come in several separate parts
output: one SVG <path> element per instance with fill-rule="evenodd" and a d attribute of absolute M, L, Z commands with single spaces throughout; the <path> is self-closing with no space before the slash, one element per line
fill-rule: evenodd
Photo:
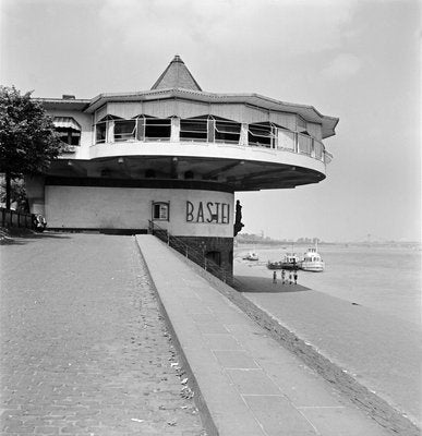
<path fill-rule="evenodd" d="M 177 250 L 179 253 L 183 254 L 183 256 L 188 257 L 190 261 L 194 262 L 196 265 L 204 268 L 206 271 L 210 272 L 213 276 L 217 277 L 225 283 L 230 286 L 234 284 L 234 279 L 231 272 L 228 272 L 226 269 L 221 268 L 214 261 L 207 258 L 203 253 L 198 250 L 194 249 L 192 245 L 186 244 L 180 238 L 172 235 L 166 229 L 162 229 L 154 221 L 149 220 L 149 233 L 154 234 L 161 241 L 164 241 L 167 245 Z"/>

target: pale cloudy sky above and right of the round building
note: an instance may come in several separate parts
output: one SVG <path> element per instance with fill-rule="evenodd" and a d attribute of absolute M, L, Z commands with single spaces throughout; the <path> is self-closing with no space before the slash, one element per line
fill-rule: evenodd
<path fill-rule="evenodd" d="M 146 90 L 180 55 L 204 90 L 340 119 L 325 181 L 237 193 L 244 232 L 419 240 L 420 19 L 417 0 L 2 0 L 1 84 Z"/>

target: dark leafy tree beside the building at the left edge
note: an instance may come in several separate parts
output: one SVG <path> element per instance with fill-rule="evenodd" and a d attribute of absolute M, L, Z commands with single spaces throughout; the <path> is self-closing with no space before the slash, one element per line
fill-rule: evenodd
<path fill-rule="evenodd" d="M 5 177 L 5 207 L 10 208 L 11 180 L 45 172 L 65 148 L 51 117 L 32 93 L 0 86 L 0 172 Z"/>

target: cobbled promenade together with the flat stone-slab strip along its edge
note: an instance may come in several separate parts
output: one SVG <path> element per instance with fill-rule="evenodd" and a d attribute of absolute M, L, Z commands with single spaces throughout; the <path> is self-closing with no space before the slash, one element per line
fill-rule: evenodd
<path fill-rule="evenodd" d="M 154 237 L 46 233 L 1 255 L 4 435 L 397 434 Z"/>

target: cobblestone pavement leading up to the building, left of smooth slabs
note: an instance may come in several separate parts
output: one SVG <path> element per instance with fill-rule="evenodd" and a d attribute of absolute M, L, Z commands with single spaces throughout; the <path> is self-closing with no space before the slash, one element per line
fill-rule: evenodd
<path fill-rule="evenodd" d="M 204 435 L 132 237 L 1 254 L 1 434 Z"/>

